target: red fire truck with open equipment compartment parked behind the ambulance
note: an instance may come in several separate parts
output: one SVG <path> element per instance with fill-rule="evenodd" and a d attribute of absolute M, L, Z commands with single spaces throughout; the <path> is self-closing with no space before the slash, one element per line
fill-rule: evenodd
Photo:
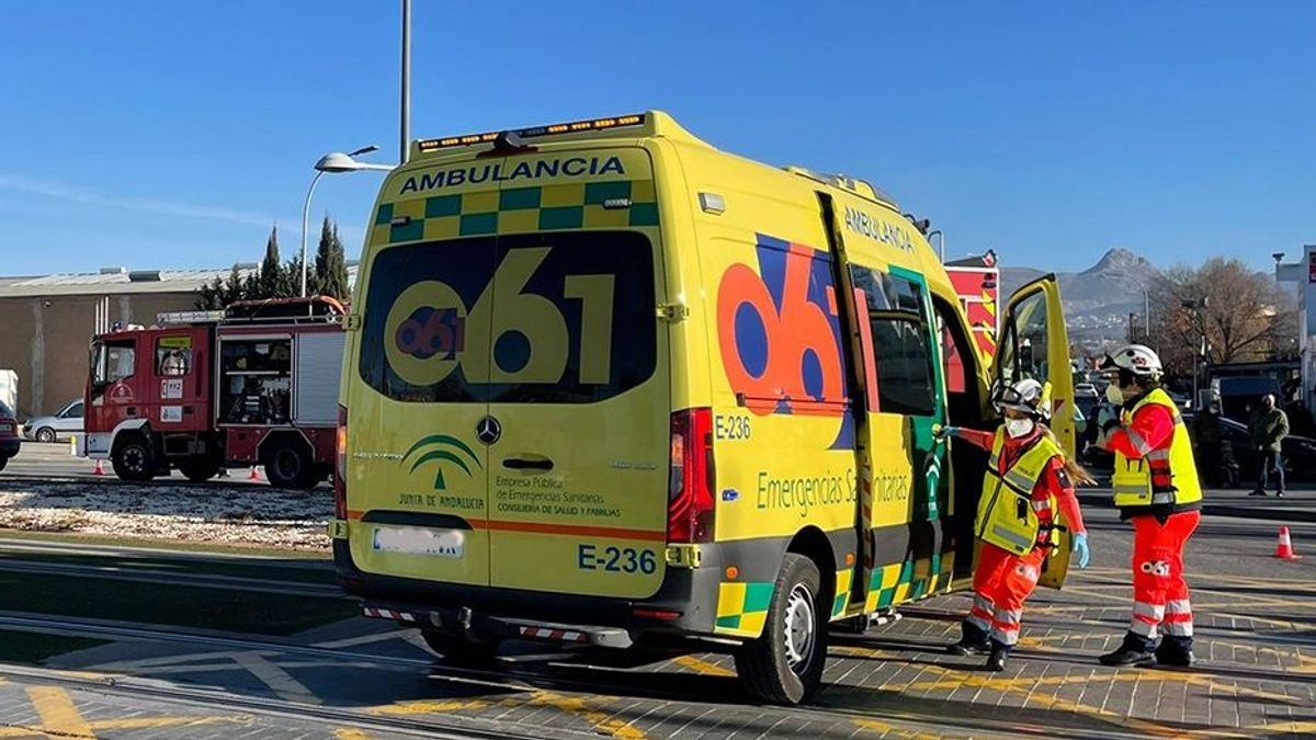
<path fill-rule="evenodd" d="M 311 489 L 333 471 L 346 311 L 330 298 L 162 313 L 92 340 L 79 454 L 125 481 L 263 465 Z"/>

